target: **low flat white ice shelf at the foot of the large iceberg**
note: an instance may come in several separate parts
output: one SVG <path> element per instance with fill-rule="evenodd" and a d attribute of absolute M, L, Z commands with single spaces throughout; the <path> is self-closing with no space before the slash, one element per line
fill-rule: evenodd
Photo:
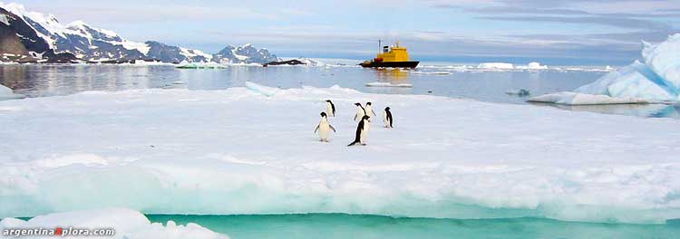
<path fill-rule="evenodd" d="M 601 94 L 584 94 L 575 92 L 557 92 L 529 98 L 529 102 L 555 103 L 564 105 L 598 105 L 598 104 L 644 104 L 648 100 L 630 97 L 609 97 Z"/>

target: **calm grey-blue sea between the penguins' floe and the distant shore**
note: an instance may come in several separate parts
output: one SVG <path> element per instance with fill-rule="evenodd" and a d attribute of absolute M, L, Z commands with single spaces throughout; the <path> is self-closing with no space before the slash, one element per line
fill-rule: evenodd
<path fill-rule="evenodd" d="M 527 97 L 572 91 L 595 81 L 606 71 L 573 67 L 549 70 L 478 71 L 455 65 L 426 65 L 416 70 L 364 69 L 333 66 L 233 66 L 225 69 L 177 69 L 172 65 L 3 65 L 0 84 L 28 97 L 66 95 L 80 91 L 129 89 L 222 90 L 244 86 L 246 81 L 278 88 L 330 87 L 335 84 L 369 93 L 432 94 L 501 103 L 524 104 Z M 410 83 L 412 88 L 367 87 L 369 82 Z M 509 94 L 520 90 L 529 96 Z M 680 119 L 680 106 L 607 105 L 558 106 L 564 110 L 642 117 Z"/>

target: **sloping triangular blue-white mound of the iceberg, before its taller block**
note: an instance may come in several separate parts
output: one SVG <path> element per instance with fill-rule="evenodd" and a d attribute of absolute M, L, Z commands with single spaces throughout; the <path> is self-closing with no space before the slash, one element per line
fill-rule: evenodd
<path fill-rule="evenodd" d="M 579 87 L 575 92 L 646 100 L 677 100 L 673 89 L 664 89 L 656 83 L 659 80 L 650 81 L 650 78 L 658 79 L 645 64 L 633 62 L 617 72 L 609 72 L 597 81 Z"/>

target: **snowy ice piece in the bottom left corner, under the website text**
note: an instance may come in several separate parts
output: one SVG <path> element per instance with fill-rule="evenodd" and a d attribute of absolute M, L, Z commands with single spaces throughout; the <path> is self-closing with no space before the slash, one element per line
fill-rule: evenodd
<path fill-rule="evenodd" d="M 62 228 L 63 235 L 56 231 Z M 44 232 L 33 233 L 32 235 L 22 235 L 22 229 L 45 229 Z M 64 232 L 65 230 L 82 229 L 87 230 L 87 236 L 74 236 Z M 197 224 L 176 225 L 173 221 L 168 221 L 164 226 L 160 223 L 151 223 L 146 216 L 140 212 L 124 208 L 106 208 L 83 211 L 71 211 L 63 213 L 53 213 L 49 215 L 38 215 L 27 221 L 17 218 L 7 217 L 0 221 L 0 233 L 14 230 L 7 238 L 28 237 L 28 238 L 54 238 L 54 237 L 83 237 L 83 238 L 126 238 L 126 239 L 148 239 L 148 238 L 196 238 L 196 239 L 228 239 L 225 234 L 218 234 Z M 49 231 L 48 231 L 49 230 Z M 97 230 L 97 232 L 95 232 Z M 108 230 L 108 231 L 107 231 Z M 109 233 L 112 232 L 112 233 Z M 107 234 L 96 236 L 96 234 Z M 52 235 L 50 235 L 52 234 Z"/>

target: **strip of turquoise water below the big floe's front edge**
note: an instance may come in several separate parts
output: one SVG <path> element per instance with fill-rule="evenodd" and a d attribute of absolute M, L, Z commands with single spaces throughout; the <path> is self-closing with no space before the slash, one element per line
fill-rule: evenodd
<path fill-rule="evenodd" d="M 435 219 L 383 215 L 147 215 L 151 222 L 196 223 L 249 238 L 678 238 L 680 222 L 627 225 L 546 218 Z"/>

